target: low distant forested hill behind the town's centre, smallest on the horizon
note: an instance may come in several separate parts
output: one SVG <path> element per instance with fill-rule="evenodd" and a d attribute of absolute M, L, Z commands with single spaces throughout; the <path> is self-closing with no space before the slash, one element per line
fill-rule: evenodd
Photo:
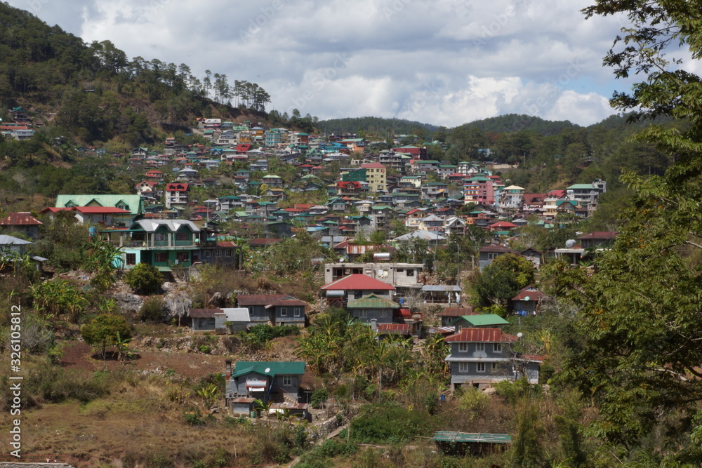
<path fill-rule="evenodd" d="M 317 123 L 323 133 L 365 133 L 387 137 L 392 135 L 411 135 L 422 129 L 424 133 L 438 130 L 439 126 L 403 119 L 383 119 L 381 117 L 348 117 L 346 119 L 329 119 Z"/>

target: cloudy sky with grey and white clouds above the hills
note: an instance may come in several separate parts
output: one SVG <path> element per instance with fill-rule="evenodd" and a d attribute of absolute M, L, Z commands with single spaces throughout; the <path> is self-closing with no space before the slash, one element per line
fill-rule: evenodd
<path fill-rule="evenodd" d="M 621 18 L 588 0 L 9 0 L 86 42 L 253 81 L 268 109 L 436 125 L 517 113 L 581 125 L 614 110 L 602 56 Z"/>

